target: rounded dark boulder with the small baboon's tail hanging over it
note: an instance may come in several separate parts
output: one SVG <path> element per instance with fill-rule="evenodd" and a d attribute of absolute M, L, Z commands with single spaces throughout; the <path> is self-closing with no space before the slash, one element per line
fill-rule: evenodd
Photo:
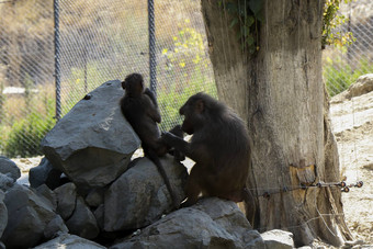
<path fill-rule="evenodd" d="M 185 167 L 168 155 L 160 161 L 181 202 L 188 177 Z M 137 229 L 171 210 L 171 197 L 157 167 L 149 159 L 139 158 L 105 192 L 104 230 Z"/>

